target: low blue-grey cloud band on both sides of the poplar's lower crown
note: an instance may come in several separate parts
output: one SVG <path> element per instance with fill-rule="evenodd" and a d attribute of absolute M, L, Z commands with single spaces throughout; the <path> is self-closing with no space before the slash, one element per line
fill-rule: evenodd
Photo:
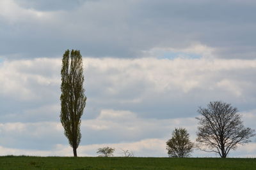
<path fill-rule="evenodd" d="M 102 113 L 108 114 L 100 118 Z M 82 120 L 81 145 L 104 143 L 131 143 L 149 138 L 166 138 L 174 127 L 188 127 L 195 132 L 195 119 L 141 119 L 135 113 L 102 110 L 100 116 L 92 120 Z M 119 118 L 115 118 L 118 114 Z M 133 115 L 134 114 L 134 115 Z M 124 121 L 125 120 L 125 121 Z M 54 145 L 67 145 L 60 122 L 6 123 L 0 124 L 0 146 L 20 149 L 49 150 Z"/>

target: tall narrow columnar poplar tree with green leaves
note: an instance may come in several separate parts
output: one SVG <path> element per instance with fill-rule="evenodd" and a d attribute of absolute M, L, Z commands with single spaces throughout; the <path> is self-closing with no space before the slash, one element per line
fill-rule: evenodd
<path fill-rule="evenodd" d="M 60 121 L 65 136 L 77 157 L 77 147 L 81 141 L 81 116 L 86 104 L 84 95 L 83 57 L 79 50 L 65 51 L 61 67 L 61 113 Z"/>

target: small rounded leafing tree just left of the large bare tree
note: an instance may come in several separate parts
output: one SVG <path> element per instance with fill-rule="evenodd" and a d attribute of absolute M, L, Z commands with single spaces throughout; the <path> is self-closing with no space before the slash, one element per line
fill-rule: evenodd
<path fill-rule="evenodd" d="M 193 143 L 189 140 L 188 131 L 175 128 L 172 138 L 166 142 L 169 157 L 189 157 L 193 152 Z"/>

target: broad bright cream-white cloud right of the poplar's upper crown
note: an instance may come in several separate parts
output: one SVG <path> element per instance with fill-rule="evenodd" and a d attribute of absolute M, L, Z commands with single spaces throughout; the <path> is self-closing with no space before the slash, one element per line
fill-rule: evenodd
<path fill-rule="evenodd" d="M 103 80 L 111 84 L 110 87 L 106 87 L 106 92 L 111 89 L 109 93 L 113 95 L 119 94 L 127 86 L 136 85 L 134 83 L 136 81 L 143 81 L 147 85 L 144 91 L 150 90 L 150 92 L 179 90 L 181 93 L 186 93 L 193 89 L 217 90 L 220 87 L 226 93 L 240 97 L 243 96 L 240 89 L 252 86 L 252 82 L 241 81 L 239 83 L 237 78 L 241 77 L 232 78 L 234 75 L 227 71 L 244 70 L 244 73 L 247 73 L 249 69 L 255 71 L 256 61 L 154 58 L 86 59 L 86 66 L 89 70 L 93 69 L 99 74 L 111 73 L 106 75 L 106 79 L 103 78 Z"/>

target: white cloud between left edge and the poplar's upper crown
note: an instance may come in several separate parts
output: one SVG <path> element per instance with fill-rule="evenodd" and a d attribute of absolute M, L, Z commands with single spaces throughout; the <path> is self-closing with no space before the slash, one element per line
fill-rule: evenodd
<path fill-rule="evenodd" d="M 20 100 L 34 100 L 47 87 L 60 84 L 58 59 L 13 60 L 0 66 L 0 94 Z M 36 87 L 34 86 L 36 85 Z M 44 87 L 40 89 L 39 87 Z M 49 88 L 51 90 L 51 88 Z"/>

